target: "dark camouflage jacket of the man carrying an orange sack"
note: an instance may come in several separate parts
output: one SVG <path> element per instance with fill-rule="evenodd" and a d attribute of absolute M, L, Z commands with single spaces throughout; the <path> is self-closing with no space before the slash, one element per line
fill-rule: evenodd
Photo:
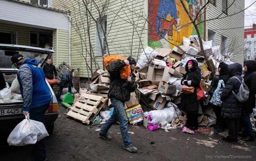
<path fill-rule="evenodd" d="M 137 84 L 135 82 L 135 74 L 131 72 L 131 82 L 126 82 L 126 80 L 121 79 L 119 70 L 125 66 L 125 61 L 116 60 L 111 62 L 108 65 L 107 71 L 110 74 L 110 90 L 108 92 L 109 98 L 116 98 L 121 102 L 126 102 L 130 100 L 131 92 L 134 92 L 137 88 Z"/>

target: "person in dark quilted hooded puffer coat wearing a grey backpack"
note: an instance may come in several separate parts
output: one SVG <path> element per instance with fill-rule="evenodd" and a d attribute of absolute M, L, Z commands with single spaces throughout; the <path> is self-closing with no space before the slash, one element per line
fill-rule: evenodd
<path fill-rule="evenodd" d="M 240 82 L 232 77 L 237 77 L 242 82 L 241 77 L 243 67 L 239 63 L 234 63 L 228 65 L 228 79 L 222 94 L 220 95 L 220 100 L 222 100 L 222 110 L 221 115 L 226 119 L 228 125 L 228 137 L 222 138 L 223 141 L 235 144 L 238 139 L 239 133 L 239 118 L 242 116 L 243 103 L 239 102 L 232 91 L 235 94 L 238 93 Z"/>

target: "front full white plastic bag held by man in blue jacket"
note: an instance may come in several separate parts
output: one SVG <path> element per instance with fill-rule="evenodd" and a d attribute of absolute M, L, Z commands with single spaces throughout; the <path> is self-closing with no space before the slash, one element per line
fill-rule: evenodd
<path fill-rule="evenodd" d="M 37 132 L 29 121 L 29 115 L 10 133 L 7 142 L 10 146 L 26 146 L 37 142 Z"/>

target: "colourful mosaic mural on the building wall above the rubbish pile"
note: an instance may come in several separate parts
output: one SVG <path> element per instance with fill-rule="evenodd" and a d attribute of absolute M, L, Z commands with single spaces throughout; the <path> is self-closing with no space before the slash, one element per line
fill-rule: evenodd
<path fill-rule="evenodd" d="M 189 14 L 196 18 L 205 0 L 183 0 Z M 149 35 L 148 44 L 153 49 L 173 48 L 173 44 L 182 45 L 183 36 L 197 35 L 196 30 L 185 12 L 180 0 L 149 0 Z M 201 10 L 196 23 L 203 22 L 205 10 Z M 204 23 L 198 25 L 199 32 L 204 37 Z M 173 44 L 172 44 L 173 43 Z"/>

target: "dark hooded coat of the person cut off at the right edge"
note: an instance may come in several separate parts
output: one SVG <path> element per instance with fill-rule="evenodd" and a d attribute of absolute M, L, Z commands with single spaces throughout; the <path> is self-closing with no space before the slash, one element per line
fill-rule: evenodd
<path fill-rule="evenodd" d="M 250 115 L 255 108 L 255 94 L 256 94 L 256 63 L 253 60 L 247 60 L 244 62 L 247 67 L 247 72 L 243 77 L 245 84 L 249 89 L 249 98 L 247 102 L 244 103 L 243 109 L 246 115 Z"/>

